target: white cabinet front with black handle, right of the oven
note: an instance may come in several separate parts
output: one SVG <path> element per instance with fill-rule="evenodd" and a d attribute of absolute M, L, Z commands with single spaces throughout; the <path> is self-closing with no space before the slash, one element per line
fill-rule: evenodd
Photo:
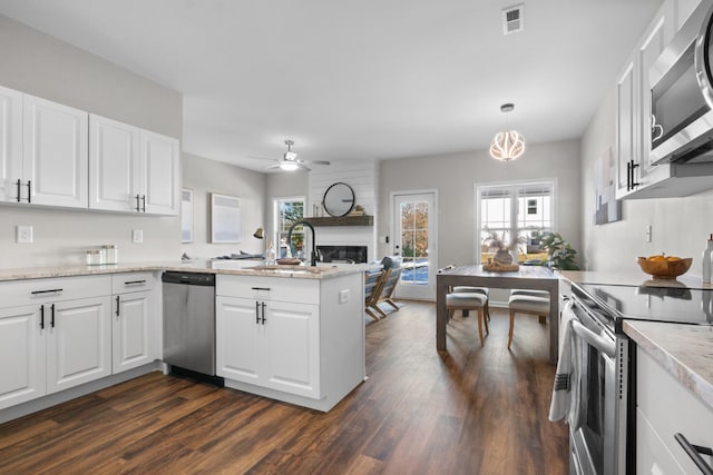
<path fill-rule="evenodd" d="M 636 384 L 638 410 L 684 472 L 697 473 L 674 435 L 682 433 L 691 444 L 713 447 L 713 409 L 641 348 L 636 353 Z M 713 464 L 713 457 L 703 458 Z"/>

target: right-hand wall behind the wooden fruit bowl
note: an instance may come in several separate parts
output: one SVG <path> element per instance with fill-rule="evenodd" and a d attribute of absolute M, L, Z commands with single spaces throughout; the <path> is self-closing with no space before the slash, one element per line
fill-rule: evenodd
<path fill-rule="evenodd" d="M 594 164 L 614 145 L 615 107 L 612 88 L 582 139 L 584 264 L 588 270 L 636 271 L 636 257 L 663 251 L 693 257 L 688 274 L 700 276 L 701 255 L 713 232 L 713 190 L 685 198 L 624 200 L 623 220 L 594 225 Z M 647 225 L 652 226 L 651 243 L 645 243 Z"/>

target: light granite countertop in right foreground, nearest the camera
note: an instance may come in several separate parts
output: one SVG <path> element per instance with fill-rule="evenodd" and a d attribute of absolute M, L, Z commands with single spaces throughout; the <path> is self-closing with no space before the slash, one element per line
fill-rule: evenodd
<path fill-rule="evenodd" d="M 624 333 L 713 409 L 713 326 L 625 320 Z"/>

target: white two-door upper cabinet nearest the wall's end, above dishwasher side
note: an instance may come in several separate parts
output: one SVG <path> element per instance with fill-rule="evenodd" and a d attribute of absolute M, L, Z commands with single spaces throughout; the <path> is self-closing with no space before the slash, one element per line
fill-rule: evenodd
<path fill-rule="evenodd" d="M 89 207 L 178 214 L 178 140 L 91 115 Z"/>

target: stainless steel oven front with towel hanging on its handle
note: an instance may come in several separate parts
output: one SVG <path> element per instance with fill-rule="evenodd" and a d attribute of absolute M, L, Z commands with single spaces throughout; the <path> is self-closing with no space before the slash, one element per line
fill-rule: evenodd
<path fill-rule="evenodd" d="M 595 308 L 576 296 L 564 311 L 572 313 L 576 362 L 570 382 L 570 474 L 625 474 L 628 339 L 616 335 L 597 317 Z"/>

